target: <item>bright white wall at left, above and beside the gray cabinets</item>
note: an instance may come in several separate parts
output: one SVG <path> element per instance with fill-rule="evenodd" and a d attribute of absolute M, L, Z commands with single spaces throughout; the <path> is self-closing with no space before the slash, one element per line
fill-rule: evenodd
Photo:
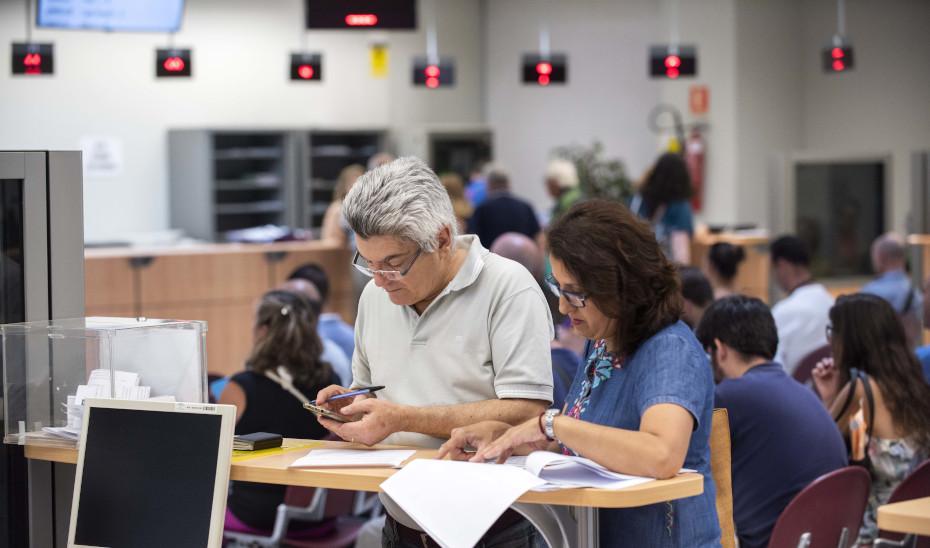
<path fill-rule="evenodd" d="M 480 122 L 480 3 L 435 4 L 440 52 L 457 61 L 454 89 L 410 85 L 411 57 L 425 50 L 423 31 L 385 33 L 386 80 L 368 75 L 371 34 L 308 33 L 308 48 L 324 53 L 325 81 L 290 83 L 302 0 L 190 0 L 175 38 L 177 46 L 193 47 L 190 80 L 155 79 L 164 34 L 48 29 L 35 29 L 33 39 L 55 43 L 55 75 L 14 78 L 9 48 L 25 38 L 25 2 L 0 0 L 0 149 L 76 149 L 87 135 L 120 139 L 122 175 L 84 181 L 85 236 L 164 229 L 169 128 L 363 126 L 397 130 L 402 138 L 427 122 Z"/>

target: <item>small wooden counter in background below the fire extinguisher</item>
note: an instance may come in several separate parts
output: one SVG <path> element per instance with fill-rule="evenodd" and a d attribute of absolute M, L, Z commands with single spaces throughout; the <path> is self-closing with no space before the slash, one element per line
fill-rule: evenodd
<path fill-rule="evenodd" d="M 729 243 L 742 246 L 746 260 L 740 263 L 734 280 L 738 292 L 750 297 L 757 297 L 769 302 L 769 237 L 756 233 L 739 234 L 724 232 L 720 234 L 696 233 L 691 242 L 691 264 L 708 271 L 708 254 L 716 243 Z"/>

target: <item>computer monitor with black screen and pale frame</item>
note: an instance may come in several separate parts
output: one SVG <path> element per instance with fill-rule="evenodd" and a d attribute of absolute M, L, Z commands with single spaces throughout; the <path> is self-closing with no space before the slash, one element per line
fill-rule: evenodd
<path fill-rule="evenodd" d="M 68 546 L 222 545 L 236 408 L 86 400 Z"/>

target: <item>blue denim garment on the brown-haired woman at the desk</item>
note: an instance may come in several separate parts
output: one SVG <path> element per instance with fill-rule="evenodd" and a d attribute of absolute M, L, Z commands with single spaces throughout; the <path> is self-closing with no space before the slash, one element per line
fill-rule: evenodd
<path fill-rule="evenodd" d="M 593 364 L 590 364 L 593 365 Z M 581 396 L 589 367 L 579 367 L 565 401 Z M 696 497 L 599 512 L 600 546 L 704 547 L 720 545 L 716 491 L 710 473 L 710 426 L 714 380 L 707 356 L 683 322 L 646 340 L 591 390 L 581 418 L 595 424 L 639 430 L 653 405 L 673 403 L 694 417 L 685 468 L 704 476 Z"/>

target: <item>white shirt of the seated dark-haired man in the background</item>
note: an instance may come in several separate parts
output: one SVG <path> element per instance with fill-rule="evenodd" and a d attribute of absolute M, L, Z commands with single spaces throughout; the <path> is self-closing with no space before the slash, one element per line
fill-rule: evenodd
<path fill-rule="evenodd" d="M 823 284 L 802 285 L 772 307 L 778 330 L 775 361 L 791 375 L 805 356 L 827 344 L 833 295 Z"/>

